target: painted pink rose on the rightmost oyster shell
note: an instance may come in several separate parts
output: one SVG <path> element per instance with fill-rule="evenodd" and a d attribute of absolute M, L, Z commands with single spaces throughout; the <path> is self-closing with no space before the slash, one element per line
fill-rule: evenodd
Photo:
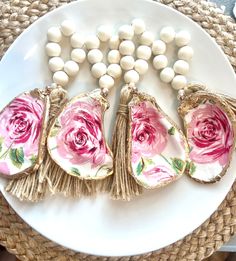
<path fill-rule="evenodd" d="M 217 105 L 196 108 L 187 131 L 191 160 L 203 164 L 218 161 L 222 166 L 228 162 L 234 134 L 229 118 Z"/>

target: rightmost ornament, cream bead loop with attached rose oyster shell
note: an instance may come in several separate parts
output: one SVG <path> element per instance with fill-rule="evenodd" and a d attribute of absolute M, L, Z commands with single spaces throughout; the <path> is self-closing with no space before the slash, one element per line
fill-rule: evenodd
<path fill-rule="evenodd" d="M 171 83 L 178 91 L 178 112 L 189 146 L 185 173 L 195 181 L 214 183 L 226 173 L 234 151 L 236 100 L 210 92 L 204 85 L 187 83 L 185 75 L 194 53 L 188 45 L 189 32 L 175 32 L 173 28 L 164 27 L 160 40 L 173 42 L 178 47 L 178 60 L 173 68 L 168 67 L 164 49 L 162 55 L 157 55 L 153 49 L 153 65 L 160 70 L 160 80 Z"/>

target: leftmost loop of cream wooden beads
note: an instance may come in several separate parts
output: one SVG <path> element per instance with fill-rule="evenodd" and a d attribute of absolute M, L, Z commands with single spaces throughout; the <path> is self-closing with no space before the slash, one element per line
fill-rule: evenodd
<path fill-rule="evenodd" d="M 72 46 L 71 60 L 64 62 L 60 57 L 62 36 L 70 37 Z M 83 63 L 86 52 L 83 50 L 84 40 L 75 32 L 75 25 L 65 20 L 60 27 L 51 27 L 47 32 L 48 43 L 46 53 L 49 58 L 49 69 L 53 72 L 53 82 L 64 87 L 69 82 L 69 77 L 75 77 L 79 72 L 79 64 Z"/>

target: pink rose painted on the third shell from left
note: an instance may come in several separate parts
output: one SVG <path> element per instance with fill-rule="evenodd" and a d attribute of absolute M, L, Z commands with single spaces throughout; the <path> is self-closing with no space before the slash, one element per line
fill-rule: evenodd
<path fill-rule="evenodd" d="M 162 115 L 149 102 L 131 107 L 132 162 L 141 157 L 151 158 L 160 154 L 167 144 L 167 130 L 160 122 Z"/>

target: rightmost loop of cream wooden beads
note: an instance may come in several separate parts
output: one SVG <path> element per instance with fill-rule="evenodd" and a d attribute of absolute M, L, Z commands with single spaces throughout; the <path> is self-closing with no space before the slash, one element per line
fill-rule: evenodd
<path fill-rule="evenodd" d="M 175 33 L 172 27 L 164 27 L 160 31 L 160 39 L 153 42 L 152 53 L 153 66 L 160 71 L 160 79 L 162 82 L 171 83 L 171 86 L 176 89 L 184 89 L 187 86 L 185 75 L 189 71 L 189 61 L 193 57 L 193 49 L 188 46 L 191 40 L 190 34 L 187 31 Z M 167 44 L 175 42 L 179 47 L 178 59 L 173 68 L 168 66 L 168 59 L 165 56 Z"/>

